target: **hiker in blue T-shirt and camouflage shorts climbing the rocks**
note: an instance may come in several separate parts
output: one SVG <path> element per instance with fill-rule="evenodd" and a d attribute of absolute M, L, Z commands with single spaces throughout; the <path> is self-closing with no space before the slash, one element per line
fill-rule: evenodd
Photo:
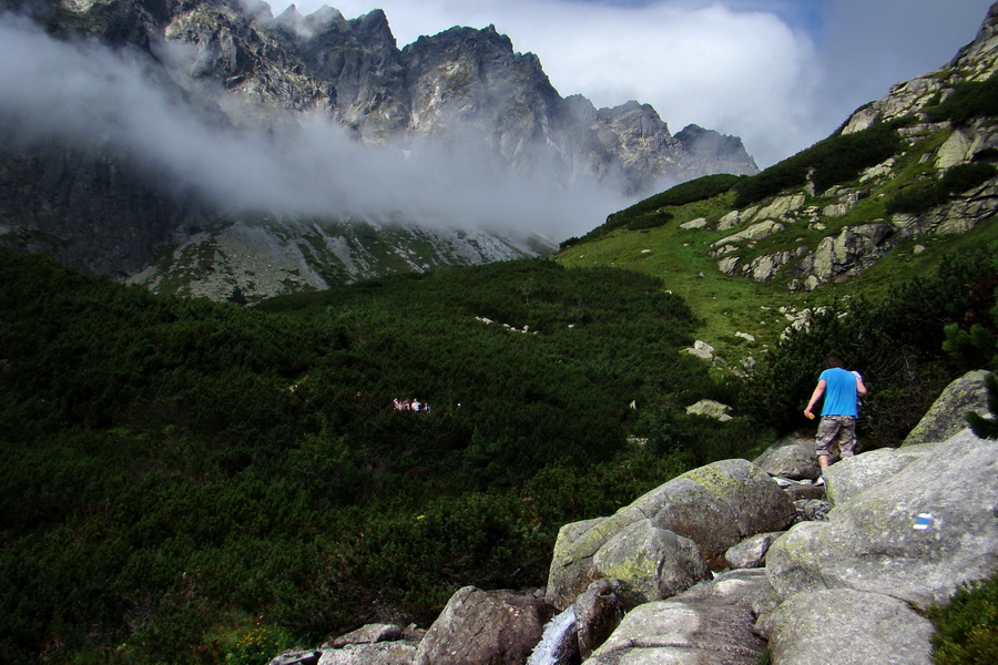
<path fill-rule="evenodd" d="M 818 377 L 817 386 L 804 409 L 804 415 L 814 418 L 811 410 L 824 396 L 822 421 L 814 437 L 818 466 L 824 475 L 828 468 L 832 443 L 838 443 L 843 458 L 853 457 L 856 448 L 856 417 L 859 415 L 859 397 L 866 395 L 866 386 L 858 372 L 843 368 L 843 362 L 835 356 L 825 360 L 825 371 Z M 821 484 L 824 477 L 818 479 Z"/>

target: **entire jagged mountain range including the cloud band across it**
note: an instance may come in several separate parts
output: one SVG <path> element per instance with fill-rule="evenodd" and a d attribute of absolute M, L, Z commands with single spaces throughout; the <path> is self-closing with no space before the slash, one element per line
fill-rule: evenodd
<path fill-rule="evenodd" d="M 757 171 L 737 137 L 562 98 L 492 25 L 399 49 L 380 10 L 0 9 L 11 86 L 32 90 L 0 110 L 0 243 L 159 291 L 254 300 L 537 256 L 593 211 Z"/>

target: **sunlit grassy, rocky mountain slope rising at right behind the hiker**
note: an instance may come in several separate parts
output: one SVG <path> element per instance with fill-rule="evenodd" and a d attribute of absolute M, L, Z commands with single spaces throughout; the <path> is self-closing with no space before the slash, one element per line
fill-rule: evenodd
<path fill-rule="evenodd" d="M 652 196 L 557 259 L 660 276 L 701 313 L 709 342 L 745 355 L 811 308 L 998 239 L 996 7 L 946 66 L 895 85 L 827 140 L 755 176 Z"/>

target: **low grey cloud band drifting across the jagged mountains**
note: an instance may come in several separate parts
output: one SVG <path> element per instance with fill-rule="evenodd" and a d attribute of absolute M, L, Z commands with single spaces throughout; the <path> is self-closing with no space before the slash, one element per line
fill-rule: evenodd
<path fill-rule="evenodd" d="M 591 186 L 510 174 L 468 146 L 375 149 L 319 115 L 273 132 L 220 120 L 192 108 L 142 54 L 54 40 L 0 17 L 7 141 L 111 150 L 228 212 L 413 221 L 542 233 L 557 242 L 624 204 Z"/>

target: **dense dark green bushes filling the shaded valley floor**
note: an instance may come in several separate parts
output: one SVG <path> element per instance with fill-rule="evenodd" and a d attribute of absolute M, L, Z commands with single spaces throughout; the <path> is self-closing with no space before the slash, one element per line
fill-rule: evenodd
<path fill-rule="evenodd" d="M 541 260 L 251 309 L 0 252 L 0 659 L 238 661 L 540 585 L 561 524 L 685 470 L 625 438 L 711 392 L 692 326 Z"/>

